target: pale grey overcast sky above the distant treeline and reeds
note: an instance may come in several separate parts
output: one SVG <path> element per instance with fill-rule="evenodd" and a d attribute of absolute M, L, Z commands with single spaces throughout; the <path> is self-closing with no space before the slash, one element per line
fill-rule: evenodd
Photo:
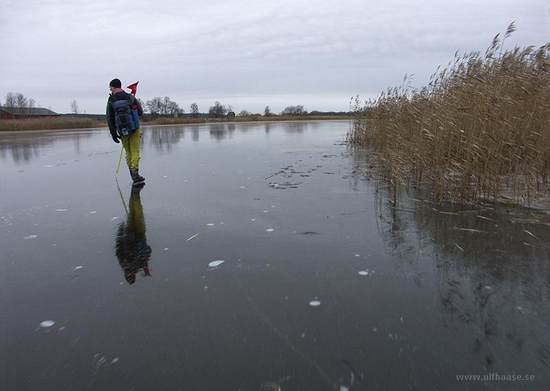
<path fill-rule="evenodd" d="M 0 102 L 104 113 L 108 85 L 168 96 L 189 112 L 215 101 L 274 113 L 348 111 L 414 74 L 428 84 L 454 53 L 550 41 L 550 0 L 0 0 Z"/>

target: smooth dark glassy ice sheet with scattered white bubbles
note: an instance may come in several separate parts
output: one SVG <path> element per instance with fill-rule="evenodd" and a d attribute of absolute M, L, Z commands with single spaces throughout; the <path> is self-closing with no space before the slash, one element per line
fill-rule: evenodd
<path fill-rule="evenodd" d="M 348 129 L 145 127 L 140 192 L 0 133 L 0 389 L 548 390 L 544 216 L 393 205 Z"/>

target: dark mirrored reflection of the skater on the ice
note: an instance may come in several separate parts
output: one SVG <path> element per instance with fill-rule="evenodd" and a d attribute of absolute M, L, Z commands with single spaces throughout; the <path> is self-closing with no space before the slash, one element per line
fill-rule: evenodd
<path fill-rule="evenodd" d="M 135 275 L 143 270 L 143 276 L 151 276 L 148 260 L 151 246 L 145 237 L 145 219 L 143 216 L 140 191 L 142 186 L 133 186 L 128 205 L 126 222 L 118 225 L 115 241 L 115 254 L 129 284 L 135 282 Z M 124 201 L 124 199 L 123 199 Z M 124 205 L 126 208 L 126 205 Z"/>

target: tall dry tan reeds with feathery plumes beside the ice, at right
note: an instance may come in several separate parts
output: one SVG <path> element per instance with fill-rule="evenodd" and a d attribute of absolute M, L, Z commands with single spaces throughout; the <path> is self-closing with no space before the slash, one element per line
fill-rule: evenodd
<path fill-rule="evenodd" d="M 456 54 L 420 91 L 406 77 L 377 100 L 355 98 L 348 141 L 376 153 L 394 186 L 412 181 L 439 201 L 530 205 L 547 194 L 550 43 L 503 52 L 499 35 L 485 56 Z"/>

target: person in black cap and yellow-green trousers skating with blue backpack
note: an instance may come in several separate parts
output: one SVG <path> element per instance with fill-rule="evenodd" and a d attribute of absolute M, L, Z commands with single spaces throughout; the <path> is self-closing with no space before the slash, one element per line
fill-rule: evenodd
<path fill-rule="evenodd" d="M 141 131 L 139 121 L 135 118 L 135 111 L 139 118 L 143 115 L 141 104 L 122 89 L 119 79 L 111 80 L 109 89 L 111 93 L 107 100 L 107 124 L 111 137 L 116 143 L 122 141 L 133 183 L 144 183 L 145 178 L 139 172 Z"/>

